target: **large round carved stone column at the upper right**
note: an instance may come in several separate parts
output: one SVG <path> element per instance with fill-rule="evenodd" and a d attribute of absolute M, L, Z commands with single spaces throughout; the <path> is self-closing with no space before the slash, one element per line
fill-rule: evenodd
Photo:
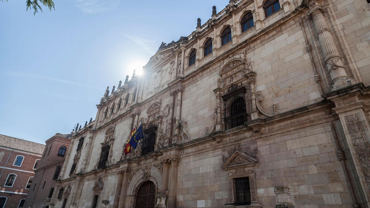
<path fill-rule="evenodd" d="M 327 27 L 323 11 L 316 0 L 308 0 L 309 13 L 313 24 L 318 33 L 320 45 L 324 54 L 325 64 L 330 75 L 330 90 L 336 90 L 352 84 L 348 78 L 342 63 L 342 58 L 338 53 L 336 44 L 331 36 L 330 29 Z"/>

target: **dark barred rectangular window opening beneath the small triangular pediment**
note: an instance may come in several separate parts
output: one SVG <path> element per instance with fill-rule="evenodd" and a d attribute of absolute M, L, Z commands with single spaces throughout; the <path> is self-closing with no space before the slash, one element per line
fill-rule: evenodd
<path fill-rule="evenodd" d="M 234 178 L 235 183 L 235 204 L 250 205 L 251 193 L 249 186 L 249 177 Z"/>

